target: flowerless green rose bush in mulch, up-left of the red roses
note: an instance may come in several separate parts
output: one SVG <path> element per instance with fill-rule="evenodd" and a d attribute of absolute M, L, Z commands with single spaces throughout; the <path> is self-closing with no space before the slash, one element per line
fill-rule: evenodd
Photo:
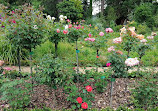
<path fill-rule="evenodd" d="M 49 85 L 57 88 L 65 84 L 68 75 L 66 74 L 66 63 L 59 58 L 55 58 L 52 54 L 46 54 L 41 58 L 38 67 L 36 68 L 36 81 L 41 84 Z"/>

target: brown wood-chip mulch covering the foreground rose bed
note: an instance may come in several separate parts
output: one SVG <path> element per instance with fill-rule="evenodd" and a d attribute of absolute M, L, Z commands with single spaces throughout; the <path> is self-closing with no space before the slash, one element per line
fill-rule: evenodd
<path fill-rule="evenodd" d="M 119 106 L 130 104 L 130 85 L 134 83 L 134 79 L 117 78 L 114 83 L 113 90 L 113 102 L 112 107 L 116 109 Z M 126 90 L 126 84 L 128 87 Z M 93 90 L 95 94 L 95 101 L 92 103 L 92 108 L 106 108 L 110 106 L 110 88 L 111 83 L 109 82 L 106 91 L 98 94 Z M 66 96 L 62 92 L 62 89 L 50 90 L 46 85 L 38 85 L 34 87 L 35 93 L 32 96 L 31 106 L 37 106 L 42 108 L 43 106 L 50 107 L 51 109 L 69 109 L 70 102 L 66 101 Z M 56 92 L 56 99 L 55 94 Z M 56 104 L 55 104 L 56 103 Z M 31 107 L 30 106 L 30 107 Z M 4 107 L 9 107 L 9 104 L 5 101 L 0 101 L 0 110 Z M 132 106 L 130 106 L 132 108 Z"/>

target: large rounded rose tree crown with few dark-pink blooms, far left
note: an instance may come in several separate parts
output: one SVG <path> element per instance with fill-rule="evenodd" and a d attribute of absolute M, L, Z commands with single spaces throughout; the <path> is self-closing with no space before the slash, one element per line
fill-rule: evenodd
<path fill-rule="evenodd" d="M 21 11 L 23 10 L 23 12 Z M 31 49 L 42 42 L 44 19 L 42 11 L 23 5 L 6 18 L 6 37 L 16 47 Z M 7 21 L 9 20 L 9 22 Z M 38 29 L 38 30 L 37 30 Z"/>

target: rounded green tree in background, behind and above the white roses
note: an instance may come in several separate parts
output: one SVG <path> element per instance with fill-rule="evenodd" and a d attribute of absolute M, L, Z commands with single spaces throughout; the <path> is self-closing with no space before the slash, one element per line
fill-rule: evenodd
<path fill-rule="evenodd" d="M 64 0 L 57 4 L 57 7 L 61 14 L 67 16 L 72 21 L 79 20 L 83 16 L 83 8 L 80 0 Z"/>

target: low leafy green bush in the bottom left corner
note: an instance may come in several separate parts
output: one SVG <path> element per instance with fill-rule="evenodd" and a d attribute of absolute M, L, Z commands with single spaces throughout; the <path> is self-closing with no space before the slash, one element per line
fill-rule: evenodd
<path fill-rule="evenodd" d="M 12 108 L 24 108 L 30 104 L 31 83 L 24 79 L 9 80 L 0 88 L 1 100 L 8 101 Z"/>

